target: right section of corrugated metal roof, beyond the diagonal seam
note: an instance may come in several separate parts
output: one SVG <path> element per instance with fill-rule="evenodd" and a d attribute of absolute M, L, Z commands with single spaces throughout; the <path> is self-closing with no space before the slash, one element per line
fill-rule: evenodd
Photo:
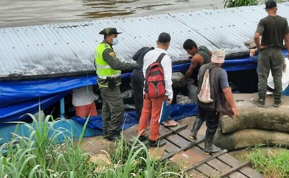
<path fill-rule="evenodd" d="M 288 18 L 289 7 L 278 4 L 278 14 Z M 258 21 L 267 16 L 264 6 L 251 6 L 219 10 L 203 10 L 171 14 L 193 28 L 226 53 L 248 50 L 244 41 L 253 38 Z"/>

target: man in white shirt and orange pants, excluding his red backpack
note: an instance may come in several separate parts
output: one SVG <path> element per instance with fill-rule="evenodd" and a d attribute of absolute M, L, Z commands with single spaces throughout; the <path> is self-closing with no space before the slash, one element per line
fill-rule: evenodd
<path fill-rule="evenodd" d="M 159 140 L 159 117 L 162 107 L 162 102 L 167 100 L 167 104 L 171 104 L 173 101 L 173 90 L 172 90 L 172 61 L 170 56 L 168 56 L 167 49 L 170 46 L 171 36 L 167 33 L 161 33 L 158 37 L 157 47 L 154 50 L 149 51 L 143 57 L 143 76 L 146 76 L 146 70 L 148 67 L 157 61 L 157 58 L 161 53 L 165 53 L 161 60 L 161 65 L 164 73 L 165 82 L 165 96 L 157 98 L 149 98 L 144 94 L 143 107 L 141 111 L 141 116 L 139 119 L 138 133 L 140 134 L 139 140 L 144 141 L 147 139 L 144 130 L 148 126 L 148 120 L 150 121 L 150 131 L 149 131 L 149 145 L 150 146 L 162 146 L 165 144 L 164 140 Z"/>

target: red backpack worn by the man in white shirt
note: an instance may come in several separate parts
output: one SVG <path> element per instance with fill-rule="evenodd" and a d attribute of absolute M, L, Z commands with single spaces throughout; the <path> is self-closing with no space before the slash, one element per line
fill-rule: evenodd
<path fill-rule="evenodd" d="M 157 98 L 164 96 L 164 73 L 161 66 L 161 60 L 165 53 L 161 53 L 156 62 L 151 64 L 146 70 L 146 82 L 144 84 L 144 92 L 149 98 Z"/>

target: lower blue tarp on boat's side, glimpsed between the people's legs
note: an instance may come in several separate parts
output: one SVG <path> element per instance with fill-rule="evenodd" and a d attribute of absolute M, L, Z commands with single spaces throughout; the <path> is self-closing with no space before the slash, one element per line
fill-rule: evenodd
<path fill-rule="evenodd" d="M 198 113 L 198 106 L 195 103 L 191 104 L 175 104 L 172 106 L 170 111 L 170 116 L 172 120 L 179 120 L 181 118 L 197 115 Z M 84 124 L 85 119 L 82 119 L 78 116 L 72 118 L 75 122 Z M 136 124 L 138 124 L 138 119 L 136 116 L 135 111 L 125 112 L 124 114 L 124 122 L 122 123 L 119 130 L 128 129 Z M 93 116 L 89 117 L 89 121 L 87 123 L 87 127 L 90 129 L 103 129 L 102 126 L 102 117 L 100 116 Z"/>

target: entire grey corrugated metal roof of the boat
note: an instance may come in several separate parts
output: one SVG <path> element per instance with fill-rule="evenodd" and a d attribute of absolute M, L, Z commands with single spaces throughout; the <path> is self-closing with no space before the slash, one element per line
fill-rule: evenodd
<path fill-rule="evenodd" d="M 278 14 L 289 17 L 289 3 L 278 4 Z M 114 47 L 117 56 L 131 62 L 143 46 L 155 46 L 161 32 L 172 36 L 168 50 L 173 62 L 187 59 L 182 48 L 190 38 L 210 50 L 227 54 L 247 51 L 257 22 L 267 14 L 263 6 L 203 10 L 126 19 L 100 19 L 51 25 L 0 28 L 0 77 L 54 75 L 94 70 L 94 49 L 105 27 L 123 32 Z"/>

